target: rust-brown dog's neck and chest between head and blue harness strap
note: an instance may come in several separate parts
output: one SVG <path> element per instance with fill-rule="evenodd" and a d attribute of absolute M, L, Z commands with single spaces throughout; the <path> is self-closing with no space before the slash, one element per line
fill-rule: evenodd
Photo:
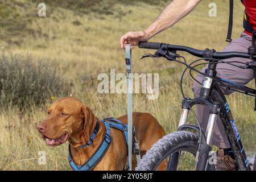
<path fill-rule="evenodd" d="M 71 138 L 69 138 L 69 144 L 71 146 L 71 155 L 73 160 L 75 161 L 76 164 L 82 165 L 84 164 L 93 154 L 94 152 L 98 149 L 100 146 L 102 140 L 104 139 L 105 136 L 105 125 L 104 123 L 100 122 L 100 119 L 96 118 L 96 121 L 100 125 L 100 129 L 98 130 L 98 133 L 96 137 L 93 140 L 93 143 L 90 144 L 89 146 L 86 146 L 84 148 L 81 148 L 83 144 L 88 142 L 88 139 L 86 139 L 84 135 L 84 131 L 80 130 L 77 132 L 75 135 L 72 135 Z M 92 125 L 92 129 L 90 129 L 90 135 L 92 135 L 94 128 L 96 126 L 96 122 L 94 122 L 94 125 Z M 90 136 L 89 135 L 89 136 Z"/>

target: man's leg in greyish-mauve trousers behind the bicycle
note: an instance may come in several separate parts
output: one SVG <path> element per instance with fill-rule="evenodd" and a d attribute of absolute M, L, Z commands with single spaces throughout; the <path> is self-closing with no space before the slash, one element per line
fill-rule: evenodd
<path fill-rule="evenodd" d="M 230 44 L 228 44 L 228 46 L 224 48 L 223 52 L 229 52 L 229 51 L 247 52 L 247 49 L 249 46 L 251 46 L 251 36 L 245 33 L 242 33 L 241 37 L 233 40 Z M 226 59 L 226 61 L 240 61 L 240 62 L 246 63 L 247 61 L 250 61 L 250 60 L 236 57 L 232 59 Z M 201 72 L 204 72 L 207 67 L 208 65 L 204 69 L 202 69 Z M 228 80 L 238 82 L 240 84 L 247 84 L 249 81 L 251 81 L 254 78 L 252 70 L 233 67 L 232 65 L 225 64 L 225 63 L 217 64 L 216 71 L 217 71 L 218 77 L 226 78 Z M 197 76 L 196 79 L 199 82 L 202 82 L 203 75 Z M 201 85 L 195 81 L 192 88 L 193 93 L 195 94 L 195 97 L 199 97 L 200 88 L 201 88 Z M 225 92 L 225 94 L 231 94 L 231 93 L 232 91 Z M 199 118 L 201 126 L 205 130 L 207 128 L 207 121 L 209 118 L 208 106 L 197 105 L 197 116 Z M 214 130 L 214 135 L 212 139 L 212 144 L 220 148 L 230 148 L 230 144 L 229 144 L 228 138 L 226 137 L 224 126 L 221 123 L 220 117 L 217 118 L 216 127 Z"/>

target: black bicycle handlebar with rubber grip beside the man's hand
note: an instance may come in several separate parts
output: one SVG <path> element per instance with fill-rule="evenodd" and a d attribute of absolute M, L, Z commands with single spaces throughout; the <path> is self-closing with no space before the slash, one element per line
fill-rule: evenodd
<path fill-rule="evenodd" d="M 190 53 L 193 56 L 197 57 L 207 57 L 209 55 L 209 49 L 205 50 L 199 50 L 194 49 L 187 46 L 176 46 L 171 44 L 165 44 L 165 43 L 157 43 L 157 42 L 139 42 L 139 48 L 145 48 L 145 49 L 159 49 L 160 47 L 167 48 L 170 51 L 185 51 Z M 243 58 L 253 58 L 256 59 L 256 55 L 253 55 L 250 57 L 249 53 L 246 52 L 216 52 L 213 51 L 210 55 L 213 59 L 228 59 L 232 57 L 243 57 Z"/>

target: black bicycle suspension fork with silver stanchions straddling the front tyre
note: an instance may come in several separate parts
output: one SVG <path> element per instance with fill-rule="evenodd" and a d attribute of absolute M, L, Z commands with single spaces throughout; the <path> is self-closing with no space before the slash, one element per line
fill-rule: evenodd
<path fill-rule="evenodd" d="M 216 77 L 216 65 L 217 64 L 209 64 L 208 69 L 205 70 L 206 75 L 210 77 Z M 199 152 L 197 152 L 196 155 L 196 170 L 204 171 L 208 167 L 208 159 L 209 159 L 209 152 L 212 150 L 212 147 L 210 147 L 210 143 L 212 142 L 213 133 L 217 121 L 217 116 L 220 111 L 220 106 L 217 102 L 213 102 L 210 100 L 211 92 L 212 92 L 212 78 L 204 76 L 202 86 L 200 89 L 200 97 L 195 98 L 191 100 L 189 97 L 185 98 L 182 102 L 182 112 L 180 115 L 179 120 L 179 129 L 181 127 L 185 127 L 187 120 L 188 120 L 188 114 L 189 110 L 193 105 L 201 104 L 201 105 L 208 105 L 209 106 L 209 119 L 208 119 L 208 125 L 207 125 L 207 132 L 206 137 L 204 135 L 204 131 L 200 133 L 199 137 L 201 137 L 201 145 L 199 148 Z M 203 129 L 201 129 L 203 130 Z M 173 161 L 171 163 L 171 160 Z M 177 167 L 177 163 L 179 160 L 179 153 L 176 152 L 170 156 L 168 169 L 175 169 Z"/>

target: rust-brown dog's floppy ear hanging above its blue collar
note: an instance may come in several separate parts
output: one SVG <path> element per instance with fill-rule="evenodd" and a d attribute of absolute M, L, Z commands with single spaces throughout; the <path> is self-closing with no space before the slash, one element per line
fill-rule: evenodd
<path fill-rule="evenodd" d="M 96 125 L 96 117 L 92 113 L 92 110 L 84 104 L 81 106 L 81 114 L 84 117 L 84 137 L 86 142 L 88 142 Z"/>

